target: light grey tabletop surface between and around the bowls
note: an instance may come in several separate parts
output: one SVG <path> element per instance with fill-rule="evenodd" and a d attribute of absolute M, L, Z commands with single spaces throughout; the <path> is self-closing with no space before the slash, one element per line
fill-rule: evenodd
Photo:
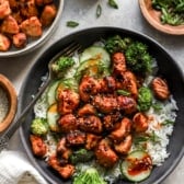
<path fill-rule="evenodd" d="M 66 0 L 60 23 L 51 38 L 39 49 L 36 49 L 31 54 L 22 57 L 0 59 L 0 73 L 5 74 L 13 82 L 19 93 L 24 77 L 35 62 L 37 55 L 60 37 L 78 30 L 93 26 L 118 26 L 145 33 L 164 46 L 164 48 L 177 61 L 184 71 L 184 36 L 166 35 L 151 27 L 140 13 L 138 0 L 116 1 L 119 5 L 118 10 L 110 8 L 107 5 L 107 0 Z M 95 16 L 97 3 L 102 5 L 102 15 L 99 19 Z M 67 27 L 66 22 L 70 20 L 79 22 L 79 26 L 74 28 Z M 10 149 L 23 150 L 22 145 L 20 143 L 19 131 L 13 136 L 10 142 Z M 163 182 L 163 184 L 183 183 L 184 158 L 173 173 Z"/>

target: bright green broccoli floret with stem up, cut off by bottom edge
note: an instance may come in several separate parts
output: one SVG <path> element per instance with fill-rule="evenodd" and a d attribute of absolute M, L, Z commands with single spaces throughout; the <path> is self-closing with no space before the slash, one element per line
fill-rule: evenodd
<path fill-rule="evenodd" d="M 73 184 L 106 184 L 106 182 L 99 175 L 97 170 L 89 168 L 81 172 L 73 180 Z"/>

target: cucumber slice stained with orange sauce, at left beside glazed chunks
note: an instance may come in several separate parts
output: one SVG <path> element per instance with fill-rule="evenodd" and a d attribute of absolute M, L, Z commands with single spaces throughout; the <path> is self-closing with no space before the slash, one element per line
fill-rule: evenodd
<path fill-rule="evenodd" d="M 55 133 L 59 131 L 59 126 L 57 124 L 58 118 L 59 118 L 59 114 L 57 112 L 57 104 L 55 103 L 51 106 L 49 106 L 47 111 L 47 123 L 51 131 L 55 131 Z"/>

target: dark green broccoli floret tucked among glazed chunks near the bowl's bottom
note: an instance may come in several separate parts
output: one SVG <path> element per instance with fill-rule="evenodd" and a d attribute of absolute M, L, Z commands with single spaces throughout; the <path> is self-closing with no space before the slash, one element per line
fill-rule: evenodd
<path fill-rule="evenodd" d="M 76 164 L 79 162 L 88 162 L 94 157 L 93 151 L 89 151 L 84 148 L 81 148 L 70 156 L 71 163 Z"/>

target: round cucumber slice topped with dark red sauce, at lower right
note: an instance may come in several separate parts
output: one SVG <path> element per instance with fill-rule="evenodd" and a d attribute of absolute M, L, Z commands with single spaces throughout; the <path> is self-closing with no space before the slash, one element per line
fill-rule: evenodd
<path fill-rule="evenodd" d="M 133 182 L 146 180 L 151 174 L 151 158 L 142 150 L 130 152 L 120 164 L 123 175 Z"/>

